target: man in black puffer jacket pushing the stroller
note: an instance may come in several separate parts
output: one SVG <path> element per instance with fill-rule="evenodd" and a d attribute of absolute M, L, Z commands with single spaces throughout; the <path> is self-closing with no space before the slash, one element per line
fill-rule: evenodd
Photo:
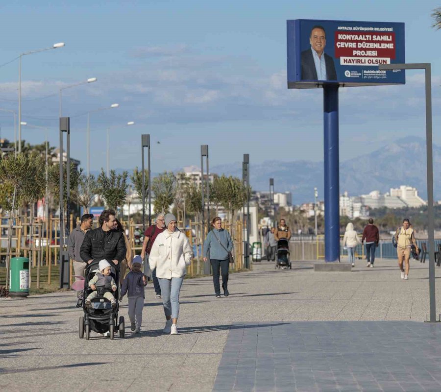
<path fill-rule="evenodd" d="M 124 260 L 127 250 L 124 233 L 114 230 L 115 215 L 113 210 L 104 210 L 98 220 L 100 227 L 86 233 L 80 249 L 80 256 L 86 263 L 106 259 L 118 265 Z"/>

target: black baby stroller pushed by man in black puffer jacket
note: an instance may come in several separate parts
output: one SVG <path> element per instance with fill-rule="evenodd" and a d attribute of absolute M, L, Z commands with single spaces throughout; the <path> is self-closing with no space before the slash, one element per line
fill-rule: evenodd
<path fill-rule="evenodd" d="M 94 260 L 92 263 L 86 266 L 86 270 L 84 271 L 85 284 L 83 290 L 83 311 L 84 316 L 79 318 L 78 325 L 78 335 L 80 339 L 83 339 L 84 333 L 86 334 L 86 340 L 90 338 L 90 331 L 95 331 L 98 334 L 103 334 L 105 332 L 110 333 L 110 339 L 113 339 L 115 336 L 115 327 L 118 328 L 120 333 L 120 338 L 124 337 L 124 318 L 120 317 L 118 322 L 118 309 L 119 309 L 119 296 L 120 296 L 120 285 L 119 285 L 119 266 L 113 264 L 113 262 L 109 261 L 111 266 L 111 275 L 115 280 L 117 285 L 117 290 L 112 292 L 113 296 L 116 299 L 116 306 L 113 308 L 110 301 L 107 298 L 104 298 L 102 295 L 104 294 L 100 289 L 97 288 L 98 296 L 91 300 L 91 308 L 85 306 L 85 300 L 89 294 L 92 293 L 92 289 L 89 287 L 89 281 L 94 277 L 96 270 L 98 270 L 99 260 Z M 102 288 L 102 290 L 107 290 Z"/>

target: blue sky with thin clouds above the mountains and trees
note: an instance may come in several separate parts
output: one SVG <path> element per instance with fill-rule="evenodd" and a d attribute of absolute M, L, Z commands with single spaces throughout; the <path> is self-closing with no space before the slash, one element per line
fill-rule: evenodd
<path fill-rule="evenodd" d="M 58 90 L 88 77 L 98 82 L 63 92 L 71 117 L 72 156 L 86 165 L 89 110 L 91 170 L 140 166 L 140 135 L 150 133 L 152 170 L 269 159 L 319 161 L 322 91 L 286 87 L 286 20 L 404 22 L 406 62 L 432 63 L 434 142 L 441 144 L 441 30 L 431 27 L 436 1 L 2 1 L 0 64 L 27 50 L 66 47 L 23 58 L 22 118 L 49 128 L 58 144 Z M 0 68 L 0 108 L 18 109 L 18 62 Z M 406 135 L 425 137 L 424 76 L 405 86 L 341 89 L 341 160 Z M 135 121 L 125 128 L 123 124 Z M 121 124 L 121 127 L 119 127 Z M 13 140 L 13 118 L 0 111 L 1 136 Z M 44 135 L 23 127 L 23 138 Z"/>

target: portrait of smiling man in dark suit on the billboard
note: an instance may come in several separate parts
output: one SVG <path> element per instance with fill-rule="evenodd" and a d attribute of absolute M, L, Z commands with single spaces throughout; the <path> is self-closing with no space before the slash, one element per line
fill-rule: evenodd
<path fill-rule="evenodd" d="M 301 53 L 302 80 L 337 80 L 334 59 L 324 52 L 326 32 L 323 26 L 315 25 L 309 36 L 311 48 Z"/>

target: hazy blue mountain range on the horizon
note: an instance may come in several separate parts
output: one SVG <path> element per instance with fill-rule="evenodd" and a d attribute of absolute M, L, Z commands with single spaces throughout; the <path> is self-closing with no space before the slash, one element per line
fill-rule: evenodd
<path fill-rule="evenodd" d="M 441 199 L 441 149 L 433 146 L 434 195 Z M 214 166 L 214 173 L 225 173 L 242 178 L 240 163 Z M 269 178 L 274 178 L 275 192 L 290 191 L 293 203 L 300 204 L 314 199 L 314 187 L 323 198 L 323 162 L 265 161 L 250 166 L 250 183 L 254 190 L 268 191 Z M 409 185 L 417 188 L 418 195 L 427 199 L 426 141 L 418 137 L 406 137 L 369 154 L 340 162 L 340 193 L 349 196 L 368 194 L 373 190 L 382 193 L 390 188 Z"/>

